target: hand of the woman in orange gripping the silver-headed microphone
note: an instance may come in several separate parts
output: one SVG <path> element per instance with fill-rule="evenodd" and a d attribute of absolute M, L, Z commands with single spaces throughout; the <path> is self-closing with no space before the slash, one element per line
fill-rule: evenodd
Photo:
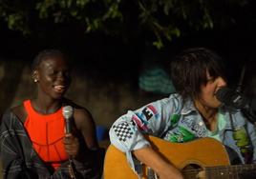
<path fill-rule="evenodd" d="M 78 154 L 80 147 L 78 139 L 72 133 L 68 133 L 65 134 L 65 137 L 63 138 L 63 143 L 68 155 L 75 158 Z"/>

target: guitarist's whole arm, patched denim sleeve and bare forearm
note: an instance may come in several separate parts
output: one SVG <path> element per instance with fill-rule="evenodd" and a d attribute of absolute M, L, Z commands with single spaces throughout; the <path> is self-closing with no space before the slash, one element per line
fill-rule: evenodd
<path fill-rule="evenodd" d="M 126 153 L 132 169 L 135 169 L 135 164 L 131 152 L 139 161 L 155 169 L 160 177 L 181 178 L 181 172 L 165 162 L 144 137 L 144 134 L 162 136 L 172 125 L 171 116 L 179 114 L 180 109 L 179 99 L 173 95 L 140 109 L 130 110 L 119 117 L 110 129 L 111 143 Z"/>

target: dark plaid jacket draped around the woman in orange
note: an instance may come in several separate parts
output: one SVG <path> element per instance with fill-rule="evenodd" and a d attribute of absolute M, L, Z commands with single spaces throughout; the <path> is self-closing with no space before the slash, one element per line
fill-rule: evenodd
<path fill-rule="evenodd" d="M 70 178 L 69 161 L 63 162 L 52 174 L 34 153 L 23 124 L 9 110 L 3 115 L 0 127 L 0 155 L 3 178 L 11 179 L 63 179 Z M 100 178 L 100 173 L 88 163 L 74 160 L 76 178 Z"/>

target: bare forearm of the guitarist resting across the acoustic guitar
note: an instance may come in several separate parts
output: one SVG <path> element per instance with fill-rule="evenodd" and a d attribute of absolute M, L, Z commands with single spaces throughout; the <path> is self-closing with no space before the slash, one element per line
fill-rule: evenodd
<path fill-rule="evenodd" d="M 134 150 L 134 155 L 146 166 L 157 172 L 160 179 L 182 179 L 179 169 L 165 161 L 158 152 L 150 147 Z M 149 157 L 150 156 L 150 157 Z"/>

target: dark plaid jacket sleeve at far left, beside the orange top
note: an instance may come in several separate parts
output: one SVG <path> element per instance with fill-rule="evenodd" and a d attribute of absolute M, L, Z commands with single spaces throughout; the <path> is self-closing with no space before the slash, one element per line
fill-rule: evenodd
<path fill-rule="evenodd" d="M 5 112 L 0 128 L 0 155 L 3 166 L 4 178 L 33 178 L 34 173 L 26 167 L 26 157 L 21 148 L 26 141 L 20 137 L 26 133 L 22 129 L 22 124 L 16 120 L 10 110 Z M 30 155 L 28 155 L 30 156 Z"/>

